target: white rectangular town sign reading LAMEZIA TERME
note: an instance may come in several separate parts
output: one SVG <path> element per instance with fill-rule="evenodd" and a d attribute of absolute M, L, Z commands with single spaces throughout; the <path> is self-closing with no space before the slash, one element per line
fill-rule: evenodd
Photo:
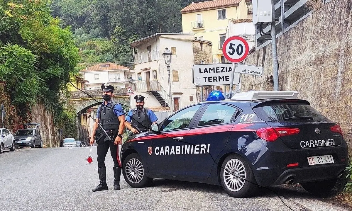
<path fill-rule="evenodd" d="M 193 65 L 193 85 L 196 87 L 230 85 L 232 70 L 232 63 L 195 64 Z M 234 73 L 233 84 L 239 83 L 239 73 Z"/>

